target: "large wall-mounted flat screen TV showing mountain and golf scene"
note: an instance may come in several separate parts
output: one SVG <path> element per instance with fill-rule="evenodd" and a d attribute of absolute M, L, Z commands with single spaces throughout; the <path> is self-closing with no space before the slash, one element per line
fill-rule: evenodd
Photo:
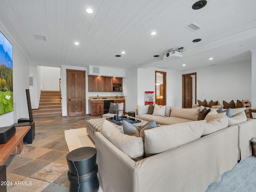
<path fill-rule="evenodd" d="M 0 115 L 13 111 L 12 44 L 0 32 Z"/>

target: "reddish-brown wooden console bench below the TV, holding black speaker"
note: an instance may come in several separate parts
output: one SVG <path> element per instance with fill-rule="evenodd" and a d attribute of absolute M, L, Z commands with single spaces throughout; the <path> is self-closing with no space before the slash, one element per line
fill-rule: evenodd
<path fill-rule="evenodd" d="M 31 126 L 20 126 L 15 128 L 15 135 L 5 144 L 0 144 L 0 165 L 3 165 L 10 155 L 16 155 L 22 152 L 23 138 L 30 130 Z"/>

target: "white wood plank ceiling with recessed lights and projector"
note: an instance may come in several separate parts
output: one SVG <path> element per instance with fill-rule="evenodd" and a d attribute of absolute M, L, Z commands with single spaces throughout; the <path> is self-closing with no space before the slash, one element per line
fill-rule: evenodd
<path fill-rule="evenodd" d="M 154 66 L 188 71 L 250 60 L 250 50 L 256 49 L 256 1 L 208 0 L 200 10 L 191 8 L 194 2 L 1 0 L 0 25 L 31 66 Z M 88 14 L 86 8 L 94 12 Z M 201 28 L 195 32 L 184 28 L 192 22 Z M 152 31 L 157 34 L 150 35 Z M 46 41 L 36 40 L 34 34 L 46 36 Z M 196 38 L 202 41 L 193 43 Z M 180 47 L 184 47 L 182 58 L 162 59 L 170 48 Z"/>

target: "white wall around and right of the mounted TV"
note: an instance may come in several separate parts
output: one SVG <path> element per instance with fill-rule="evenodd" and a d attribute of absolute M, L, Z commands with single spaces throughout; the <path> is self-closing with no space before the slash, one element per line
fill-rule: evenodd
<path fill-rule="evenodd" d="M 0 127 L 10 126 L 19 118 L 29 118 L 26 89 L 29 88 L 28 58 L 9 36 L 0 22 L 0 31 L 13 45 L 13 107 L 14 111 L 0 115 Z"/>

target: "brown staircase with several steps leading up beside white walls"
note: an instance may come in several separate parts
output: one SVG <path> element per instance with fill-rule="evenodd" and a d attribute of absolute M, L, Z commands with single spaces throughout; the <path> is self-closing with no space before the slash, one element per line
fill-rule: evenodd
<path fill-rule="evenodd" d="M 32 110 L 33 118 L 62 116 L 60 91 L 41 91 L 38 110 Z"/>

